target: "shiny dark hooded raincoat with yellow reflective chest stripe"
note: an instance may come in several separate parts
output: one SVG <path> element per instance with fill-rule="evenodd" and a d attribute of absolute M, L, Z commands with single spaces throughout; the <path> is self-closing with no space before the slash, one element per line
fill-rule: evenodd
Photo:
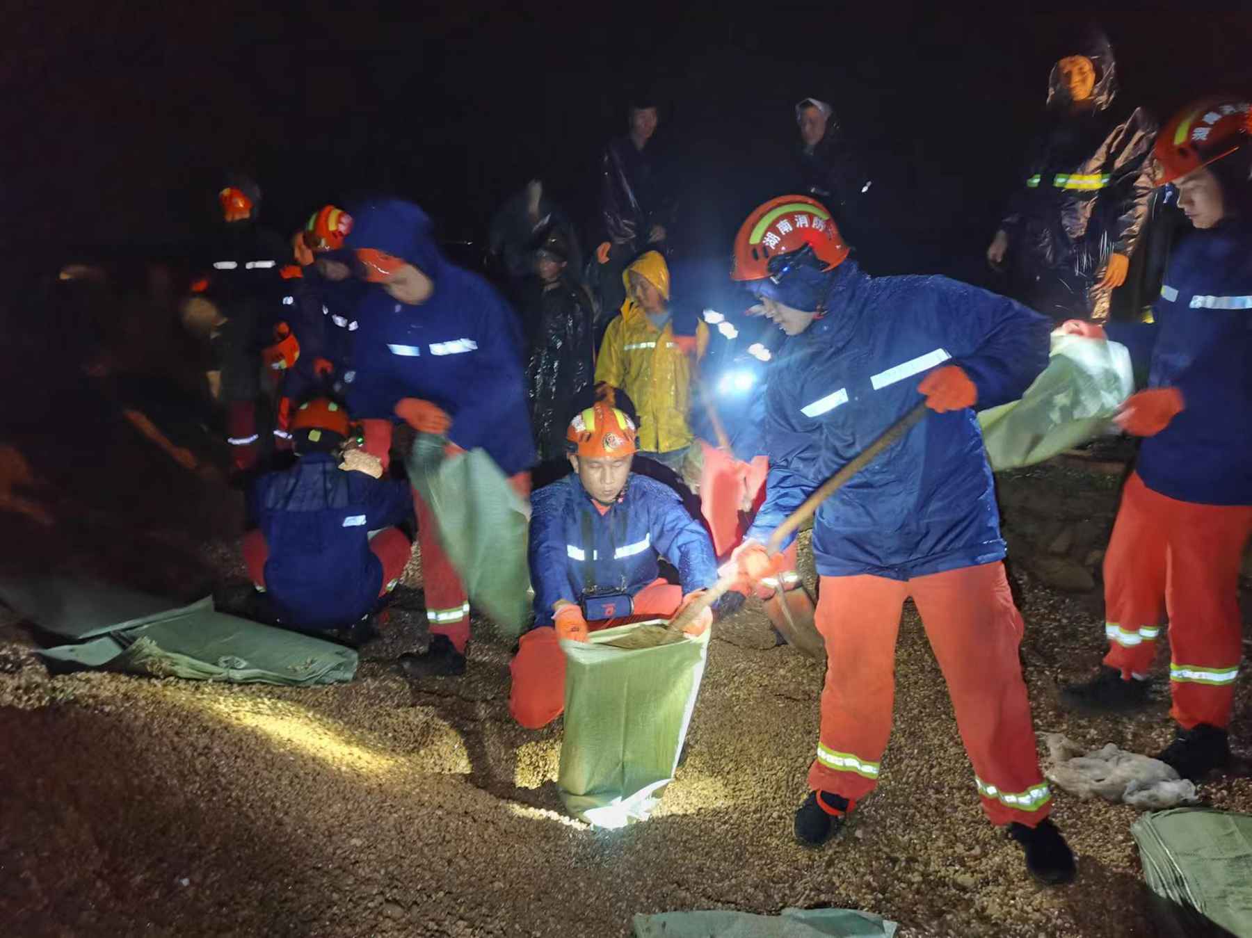
<path fill-rule="evenodd" d="M 1143 108 L 1113 110 L 1117 68 L 1103 34 L 1077 50 L 1096 66 L 1096 86 L 1072 103 L 1060 70 L 1048 78 L 1048 125 L 1030 147 L 1020 189 L 1000 228 L 1009 235 L 1012 292 L 1055 321 L 1108 316 L 1098 286 L 1109 254 L 1136 248 L 1152 179 L 1147 157 L 1157 121 Z"/>

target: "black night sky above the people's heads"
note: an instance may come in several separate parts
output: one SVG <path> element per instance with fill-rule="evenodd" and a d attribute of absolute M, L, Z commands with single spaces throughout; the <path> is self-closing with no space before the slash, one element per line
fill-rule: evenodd
<path fill-rule="evenodd" d="M 1209 90 L 1252 90 L 1248 13 L 1184 24 L 868 6 L 30 4 L 4 30 L 0 195 L 28 240 L 169 245 L 203 227 L 223 173 L 243 168 L 279 230 L 327 200 L 393 190 L 448 234 L 478 237 L 533 174 L 588 214 L 596 153 L 639 83 L 660 91 L 656 145 L 682 182 L 689 238 L 725 252 L 742 214 L 775 194 L 762 187 L 794 142 L 791 104 L 813 94 L 890 188 L 891 224 L 918 245 L 900 267 L 952 268 L 990 235 L 1017 182 L 1065 51 L 1058 36 L 1101 23 L 1119 103 L 1158 116 Z"/>

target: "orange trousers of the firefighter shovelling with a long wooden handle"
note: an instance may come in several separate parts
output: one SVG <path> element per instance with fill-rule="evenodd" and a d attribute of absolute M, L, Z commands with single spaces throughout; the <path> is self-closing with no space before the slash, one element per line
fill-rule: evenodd
<path fill-rule="evenodd" d="M 993 824 L 1034 827 L 1050 810 L 1039 773 L 1018 645 L 1022 616 L 1004 565 L 984 564 L 906 582 L 823 576 L 818 630 L 826 641 L 821 736 L 809 788 L 860 800 L 874 790 L 891 731 L 895 640 L 913 596 L 948 683 L 957 725 Z"/>

